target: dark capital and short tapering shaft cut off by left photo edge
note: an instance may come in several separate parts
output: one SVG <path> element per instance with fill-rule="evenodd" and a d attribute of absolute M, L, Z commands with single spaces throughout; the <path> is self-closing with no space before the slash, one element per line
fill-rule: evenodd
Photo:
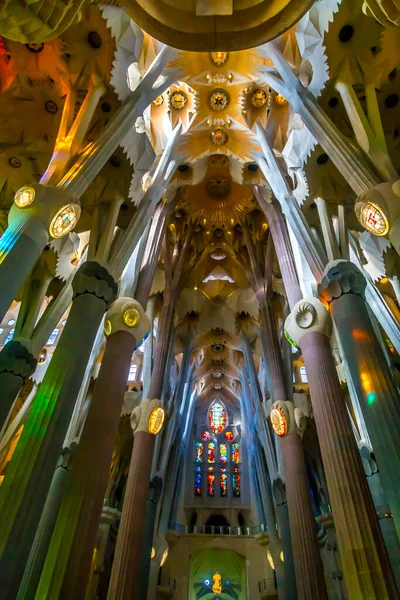
<path fill-rule="evenodd" d="M 0 429 L 25 381 L 36 369 L 37 360 L 28 339 L 15 338 L 0 352 Z"/>

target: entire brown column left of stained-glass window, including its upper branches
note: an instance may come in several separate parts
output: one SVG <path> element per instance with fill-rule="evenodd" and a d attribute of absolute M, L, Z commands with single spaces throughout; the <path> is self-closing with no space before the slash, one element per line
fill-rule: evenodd
<path fill-rule="evenodd" d="M 170 257 L 165 248 L 164 264 L 166 288 L 161 312 L 159 335 L 156 344 L 154 368 L 148 399 L 132 414 L 134 443 L 128 481 L 124 498 L 113 568 L 111 572 L 108 600 L 131 600 L 144 598 L 147 590 L 140 589 L 140 569 L 143 566 L 142 552 L 146 543 L 146 506 L 155 445 L 155 436 L 161 425 L 152 429 L 150 417 L 154 411 L 164 414 L 159 398 L 162 394 L 164 377 L 168 365 L 170 345 L 173 335 L 175 302 L 184 282 L 187 267 L 191 229 L 186 233 L 180 252 Z M 189 264 L 189 269 L 191 265 Z"/>

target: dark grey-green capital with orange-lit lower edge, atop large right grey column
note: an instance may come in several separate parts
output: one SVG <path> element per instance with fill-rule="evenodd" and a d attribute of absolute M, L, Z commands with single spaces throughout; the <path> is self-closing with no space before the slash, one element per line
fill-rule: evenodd
<path fill-rule="evenodd" d="M 367 282 L 360 269 L 349 260 L 334 260 L 327 264 L 318 286 L 318 294 L 325 306 L 343 294 L 365 298 Z"/>

